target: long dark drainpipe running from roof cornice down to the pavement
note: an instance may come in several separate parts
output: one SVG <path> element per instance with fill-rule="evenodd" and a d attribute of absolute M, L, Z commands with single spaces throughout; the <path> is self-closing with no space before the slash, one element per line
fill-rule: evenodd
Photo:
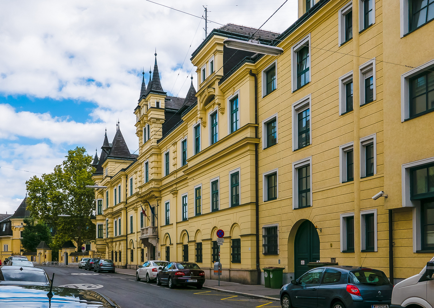
<path fill-rule="evenodd" d="M 258 138 L 258 78 L 249 72 L 255 79 L 255 138 Z M 256 270 L 258 272 L 257 284 L 261 283 L 261 269 L 259 267 L 259 179 L 258 179 L 258 143 L 255 143 L 255 216 L 256 216 Z"/>

